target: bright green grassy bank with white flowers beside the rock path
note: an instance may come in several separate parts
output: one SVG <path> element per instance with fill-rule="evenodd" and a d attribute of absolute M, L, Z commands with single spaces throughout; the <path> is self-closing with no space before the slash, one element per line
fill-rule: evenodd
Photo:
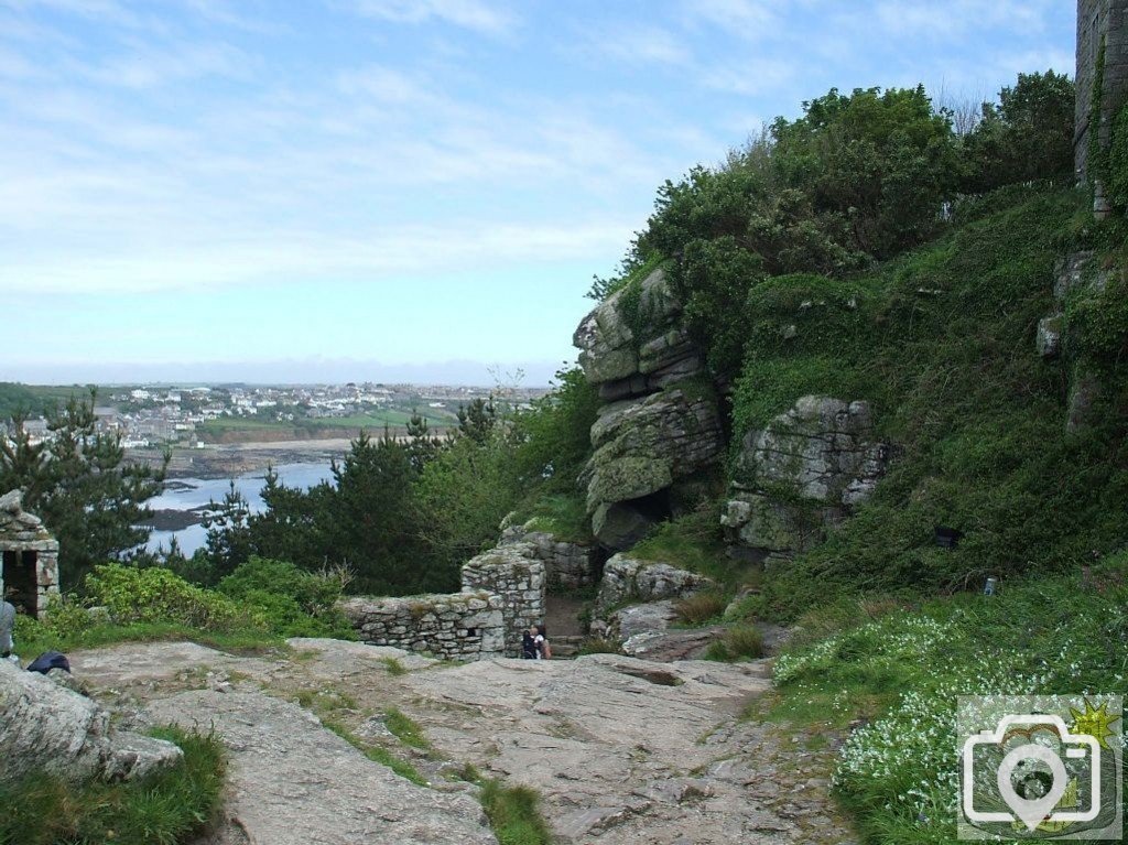
<path fill-rule="evenodd" d="M 872 720 L 835 775 L 866 842 L 955 842 L 955 696 L 1128 693 L 1126 579 L 1121 553 L 1084 574 L 885 613 L 781 658 L 774 715 L 816 733 Z M 853 617 L 869 619 L 865 605 Z"/>

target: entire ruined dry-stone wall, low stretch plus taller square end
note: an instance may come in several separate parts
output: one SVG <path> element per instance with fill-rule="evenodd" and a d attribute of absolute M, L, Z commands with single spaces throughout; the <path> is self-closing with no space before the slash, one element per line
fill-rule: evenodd
<path fill-rule="evenodd" d="M 446 660 L 520 657 L 521 633 L 545 620 L 545 564 L 536 547 L 514 543 L 462 566 L 461 592 L 372 598 L 338 606 L 361 641 L 428 652 Z"/>

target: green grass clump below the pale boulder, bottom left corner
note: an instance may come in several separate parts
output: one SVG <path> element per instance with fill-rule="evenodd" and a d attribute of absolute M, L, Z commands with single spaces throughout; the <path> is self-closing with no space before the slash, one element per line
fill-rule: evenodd
<path fill-rule="evenodd" d="M 195 842 L 222 804 L 226 764 L 213 736 L 153 731 L 184 749 L 183 759 L 126 783 L 72 784 L 34 775 L 0 785 L 0 845 L 105 845 Z"/>

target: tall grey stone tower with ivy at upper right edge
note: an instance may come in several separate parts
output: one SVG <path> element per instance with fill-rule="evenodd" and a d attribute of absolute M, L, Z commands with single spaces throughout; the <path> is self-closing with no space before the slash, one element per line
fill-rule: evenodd
<path fill-rule="evenodd" d="M 1100 114 L 1093 114 L 1093 82 L 1104 45 Z M 1077 112 L 1074 162 L 1078 182 L 1089 179 L 1091 132 L 1107 147 L 1117 112 L 1128 99 L 1128 0 L 1077 0 Z M 1108 212 L 1104 186 L 1094 181 L 1093 210 Z"/>

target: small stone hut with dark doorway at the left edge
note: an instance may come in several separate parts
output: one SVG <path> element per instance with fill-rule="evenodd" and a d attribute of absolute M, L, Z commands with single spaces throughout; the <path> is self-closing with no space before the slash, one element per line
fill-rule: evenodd
<path fill-rule="evenodd" d="M 0 595 L 18 610 L 42 617 L 58 593 L 59 540 L 24 510 L 20 491 L 0 496 Z"/>

